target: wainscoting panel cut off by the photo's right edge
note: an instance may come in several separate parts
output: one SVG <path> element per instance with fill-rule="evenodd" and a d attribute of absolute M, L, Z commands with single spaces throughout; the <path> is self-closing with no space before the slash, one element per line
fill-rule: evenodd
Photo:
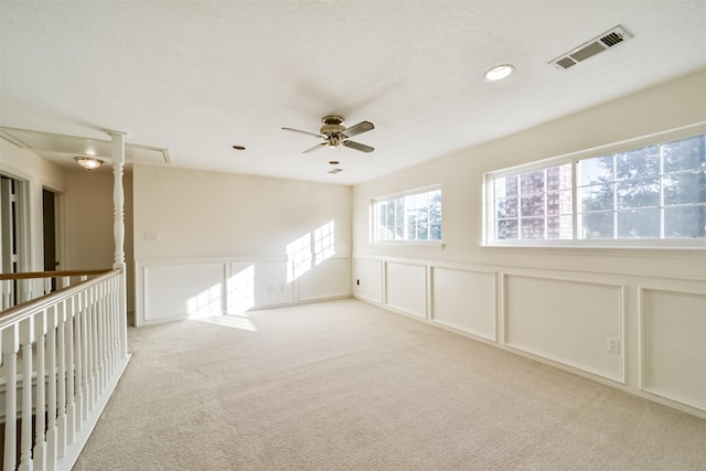
<path fill-rule="evenodd" d="M 706 296 L 642 290 L 644 390 L 706 410 Z"/>

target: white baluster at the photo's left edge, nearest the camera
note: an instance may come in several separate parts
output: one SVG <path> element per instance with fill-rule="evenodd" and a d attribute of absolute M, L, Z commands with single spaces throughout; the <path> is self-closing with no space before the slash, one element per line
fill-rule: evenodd
<path fill-rule="evenodd" d="M 13 470 L 18 450 L 18 350 L 20 347 L 18 325 L 2 331 L 2 360 L 7 367 L 4 397 L 4 461 L 2 469 Z"/>

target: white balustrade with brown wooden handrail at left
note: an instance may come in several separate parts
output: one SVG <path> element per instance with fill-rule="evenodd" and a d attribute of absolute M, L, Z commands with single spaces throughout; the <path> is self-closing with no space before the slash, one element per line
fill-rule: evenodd
<path fill-rule="evenodd" d="M 0 313 L 4 470 L 71 470 L 129 361 L 121 270 L 50 274 L 83 281 Z"/>

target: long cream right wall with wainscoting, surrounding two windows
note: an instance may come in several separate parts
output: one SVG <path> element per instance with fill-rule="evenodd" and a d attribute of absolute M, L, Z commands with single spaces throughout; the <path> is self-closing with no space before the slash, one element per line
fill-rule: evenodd
<path fill-rule="evenodd" d="M 355 186 L 354 296 L 706 417 L 704 250 L 481 246 L 485 172 L 706 121 L 705 83 L 700 71 Z M 437 183 L 443 246 L 370 243 L 373 197 Z"/>

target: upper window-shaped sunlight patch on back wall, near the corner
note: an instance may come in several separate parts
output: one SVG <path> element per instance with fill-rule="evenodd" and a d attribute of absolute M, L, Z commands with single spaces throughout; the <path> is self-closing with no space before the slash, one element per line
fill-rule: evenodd
<path fill-rule="evenodd" d="M 312 250 L 313 246 L 313 250 Z M 287 282 L 292 282 L 328 258 L 335 255 L 335 223 L 321 227 L 287 244 Z"/>

